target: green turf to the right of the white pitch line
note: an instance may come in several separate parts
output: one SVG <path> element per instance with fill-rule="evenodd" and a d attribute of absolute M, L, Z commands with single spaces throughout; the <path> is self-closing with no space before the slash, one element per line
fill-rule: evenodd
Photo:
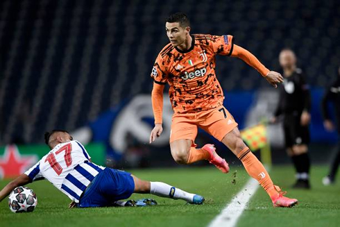
<path fill-rule="evenodd" d="M 340 226 L 340 182 L 323 186 L 321 180 L 327 171 L 328 167 L 313 167 L 312 190 L 294 190 L 290 187 L 294 183 L 290 177 L 294 169 L 274 167 L 270 172 L 273 182 L 280 183 L 287 191 L 286 196 L 298 199 L 298 205 L 291 209 L 273 209 L 266 193 L 257 190 L 238 226 Z"/>

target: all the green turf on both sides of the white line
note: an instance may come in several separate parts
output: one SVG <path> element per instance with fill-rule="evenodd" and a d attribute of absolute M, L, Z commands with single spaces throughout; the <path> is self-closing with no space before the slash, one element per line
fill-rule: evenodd
<path fill-rule="evenodd" d="M 231 183 L 237 170 L 236 184 Z M 239 226 L 336 226 L 340 223 L 340 185 L 323 187 L 321 178 L 325 167 L 312 169 L 313 190 L 291 190 L 291 167 L 275 167 L 273 180 L 286 190 L 289 196 L 299 199 L 293 209 L 272 208 L 268 196 L 258 190 L 249 208 L 241 216 Z M 226 206 L 232 196 L 244 185 L 248 176 L 243 169 L 232 167 L 230 174 L 221 174 L 214 168 L 178 168 L 133 170 L 139 178 L 163 181 L 188 192 L 202 194 L 204 205 L 189 205 L 184 201 L 157 196 L 134 195 L 133 199 L 149 197 L 158 201 L 157 206 L 146 208 L 85 208 L 68 209 L 69 199 L 50 183 L 40 181 L 28 185 L 37 194 L 38 205 L 33 213 L 14 214 L 7 201 L 0 203 L 0 226 L 207 226 Z M 0 187 L 8 181 L 0 181 Z"/>

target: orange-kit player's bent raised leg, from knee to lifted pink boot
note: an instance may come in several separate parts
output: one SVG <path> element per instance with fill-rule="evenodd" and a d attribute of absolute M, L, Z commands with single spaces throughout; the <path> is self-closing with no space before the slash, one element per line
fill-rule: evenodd
<path fill-rule="evenodd" d="M 213 144 L 205 144 L 201 149 L 192 146 L 192 140 L 175 140 L 170 143 L 171 155 L 180 164 L 191 164 L 199 160 L 207 160 L 217 169 L 227 174 L 229 165 L 217 153 Z"/>

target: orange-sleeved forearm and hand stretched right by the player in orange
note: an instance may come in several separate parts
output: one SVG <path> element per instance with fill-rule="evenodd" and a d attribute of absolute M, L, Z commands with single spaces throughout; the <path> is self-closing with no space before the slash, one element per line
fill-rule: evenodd
<path fill-rule="evenodd" d="M 264 67 L 264 65 L 262 65 L 260 60 L 258 60 L 253 55 L 253 53 L 250 53 L 246 49 L 239 47 L 236 44 L 234 44 L 234 48 L 232 49 L 231 56 L 240 58 L 241 60 L 246 62 L 248 65 L 256 69 L 257 72 L 259 72 L 262 76 L 264 76 L 264 78 L 266 78 L 268 83 L 273 85 L 273 87 L 276 88 L 278 87 L 278 83 L 283 82 L 283 77 L 281 76 L 281 74 L 279 74 L 278 72 L 269 71 L 269 69 Z"/>

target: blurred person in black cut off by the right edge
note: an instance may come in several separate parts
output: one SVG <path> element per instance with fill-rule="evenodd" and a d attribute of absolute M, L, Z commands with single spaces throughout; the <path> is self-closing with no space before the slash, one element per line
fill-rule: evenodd
<path fill-rule="evenodd" d="M 323 125 L 327 131 L 334 131 L 334 124 L 330 117 L 330 112 L 328 111 L 328 102 L 332 102 L 335 110 L 335 117 L 337 121 L 337 131 L 338 131 L 338 144 L 337 151 L 335 153 L 334 159 L 332 159 L 332 165 L 330 167 L 330 172 L 328 176 L 323 178 L 324 185 L 330 185 L 334 183 L 335 176 L 340 164 L 340 67 L 339 76 L 332 86 L 328 88 L 323 96 L 322 110 L 323 110 Z"/>

